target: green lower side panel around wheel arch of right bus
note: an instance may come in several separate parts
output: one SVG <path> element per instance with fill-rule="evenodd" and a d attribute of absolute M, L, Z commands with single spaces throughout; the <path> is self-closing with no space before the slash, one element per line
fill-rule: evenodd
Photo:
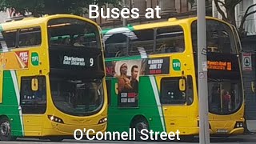
<path fill-rule="evenodd" d="M 153 78 L 154 82 L 151 82 Z M 149 122 L 150 130 L 164 131 L 164 121 L 162 120 L 162 109 L 158 108 L 158 90 L 154 77 L 140 77 L 138 107 L 118 107 L 118 95 L 115 90 L 111 90 L 111 105 L 109 107 L 108 131 L 128 131 L 133 118 L 140 115 Z M 112 86 L 118 82 L 118 78 L 112 78 Z M 153 83 L 153 84 L 152 84 Z M 155 84 L 154 84 L 155 83 Z M 156 95 L 156 96 L 155 96 Z M 157 102 L 158 101 L 158 102 Z M 161 107 L 161 106 L 160 106 Z M 122 120 L 120 120 L 122 118 Z"/>

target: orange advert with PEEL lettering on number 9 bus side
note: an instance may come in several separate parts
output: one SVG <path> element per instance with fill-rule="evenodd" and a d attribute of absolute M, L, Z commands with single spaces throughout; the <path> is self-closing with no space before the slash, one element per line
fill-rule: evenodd
<path fill-rule="evenodd" d="M 29 51 L 10 51 L 0 54 L 2 70 L 22 70 L 28 68 Z"/>

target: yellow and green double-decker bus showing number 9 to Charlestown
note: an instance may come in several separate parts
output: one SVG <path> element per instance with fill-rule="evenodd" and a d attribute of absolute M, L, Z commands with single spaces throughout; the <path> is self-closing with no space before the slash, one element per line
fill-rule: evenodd
<path fill-rule="evenodd" d="M 61 141 L 77 129 L 106 130 L 106 74 L 95 22 L 56 14 L 5 22 L 0 31 L 1 141 Z"/>

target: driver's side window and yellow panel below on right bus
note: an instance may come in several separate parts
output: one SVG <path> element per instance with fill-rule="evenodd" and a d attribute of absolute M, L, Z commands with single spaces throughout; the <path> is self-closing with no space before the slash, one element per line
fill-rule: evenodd
<path fill-rule="evenodd" d="M 192 77 L 168 77 L 160 82 L 160 102 L 166 130 L 176 130 L 189 124 L 188 106 L 193 102 Z"/>

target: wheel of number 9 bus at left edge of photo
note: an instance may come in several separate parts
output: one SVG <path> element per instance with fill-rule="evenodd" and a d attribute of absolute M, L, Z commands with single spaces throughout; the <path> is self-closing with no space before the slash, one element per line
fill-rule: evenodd
<path fill-rule="evenodd" d="M 0 119 L 0 140 L 1 141 L 10 141 L 11 138 L 11 127 L 10 121 L 8 118 Z"/>

